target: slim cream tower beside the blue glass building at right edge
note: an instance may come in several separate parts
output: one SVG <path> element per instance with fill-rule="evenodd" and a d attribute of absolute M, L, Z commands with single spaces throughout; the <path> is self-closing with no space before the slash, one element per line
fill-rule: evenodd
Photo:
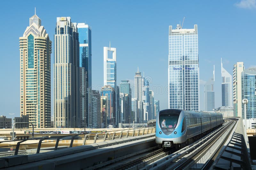
<path fill-rule="evenodd" d="M 233 67 L 233 104 L 234 116 L 242 117 L 242 81 L 241 74 L 244 71 L 244 62 L 237 62 Z"/>

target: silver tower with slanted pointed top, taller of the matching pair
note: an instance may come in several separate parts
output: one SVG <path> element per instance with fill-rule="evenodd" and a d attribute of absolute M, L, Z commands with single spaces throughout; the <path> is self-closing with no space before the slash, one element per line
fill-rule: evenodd
<path fill-rule="evenodd" d="M 223 68 L 221 58 L 221 91 L 222 91 L 222 106 L 233 106 L 233 90 L 232 90 L 232 76 L 227 70 Z"/>

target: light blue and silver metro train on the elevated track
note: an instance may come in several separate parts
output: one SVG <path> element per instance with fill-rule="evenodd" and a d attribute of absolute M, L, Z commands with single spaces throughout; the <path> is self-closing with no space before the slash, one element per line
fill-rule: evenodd
<path fill-rule="evenodd" d="M 156 116 L 156 143 L 164 148 L 182 148 L 222 124 L 221 113 L 161 110 Z"/>

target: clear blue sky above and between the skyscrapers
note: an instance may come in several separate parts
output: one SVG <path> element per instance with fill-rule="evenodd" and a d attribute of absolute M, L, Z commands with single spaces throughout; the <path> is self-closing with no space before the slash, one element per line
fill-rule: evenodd
<path fill-rule="evenodd" d="M 0 115 L 20 115 L 19 37 L 36 14 L 53 41 L 56 17 L 92 26 L 92 84 L 103 85 L 103 46 L 117 48 L 117 83 L 130 80 L 139 67 L 151 85 L 168 83 L 168 28 L 198 25 L 200 109 L 204 109 L 203 83 L 215 65 L 215 107 L 221 106 L 220 57 L 232 74 L 233 65 L 256 65 L 255 0 L 218 1 L 3 1 L 1 16 Z M 53 65 L 53 53 L 52 53 Z M 52 70 L 53 73 L 53 70 Z M 53 84 L 53 79 L 52 79 Z M 52 90 L 53 95 L 53 90 Z M 168 108 L 168 95 L 155 92 L 160 108 Z M 53 98 L 52 98 L 53 101 Z M 53 105 L 52 105 L 53 106 Z M 52 107 L 53 112 L 53 107 Z M 53 114 L 53 113 L 52 113 Z M 8 115 L 9 117 L 9 115 Z"/>

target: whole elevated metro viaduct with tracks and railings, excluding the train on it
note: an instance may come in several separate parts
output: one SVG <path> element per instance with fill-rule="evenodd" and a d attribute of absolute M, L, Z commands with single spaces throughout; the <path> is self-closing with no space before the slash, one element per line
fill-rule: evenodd
<path fill-rule="evenodd" d="M 154 124 L 154 120 L 148 124 Z M 42 147 L 49 140 L 43 137 L 31 140 L 37 146 L 35 148 L 24 149 L 21 142 L 19 148 L 18 143 L 13 145 L 15 151 L 12 153 L 0 154 L 0 168 L 252 169 L 254 165 L 244 136 L 242 119 L 229 118 L 222 127 L 193 144 L 171 151 L 165 151 L 156 144 L 154 126 L 52 137 L 50 139 L 55 141 L 54 147 Z M 66 144 L 61 144 L 61 138 L 66 140 Z M 82 145 L 76 145 L 78 141 Z"/>

